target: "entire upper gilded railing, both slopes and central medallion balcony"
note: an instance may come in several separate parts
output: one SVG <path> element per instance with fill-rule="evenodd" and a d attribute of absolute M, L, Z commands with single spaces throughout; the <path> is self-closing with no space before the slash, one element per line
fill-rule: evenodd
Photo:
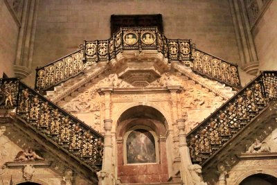
<path fill-rule="evenodd" d="M 167 39 L 157 27 L 120 28 L 107 40 L 84 41 L 82 49 L 37 69 L 35 89 L 46 90 L 77 76 L 89 65 L 116 58 L 128 50 L 155 50 L 168 62 L 193 61 L 193 69 L 208 78 L 240 88 L 237 66 L 192 48 L 191 39 Z M 206 65 L 206 58 L 210 62 Z M 211 69 L 210 69 L 211 68 Z"/>

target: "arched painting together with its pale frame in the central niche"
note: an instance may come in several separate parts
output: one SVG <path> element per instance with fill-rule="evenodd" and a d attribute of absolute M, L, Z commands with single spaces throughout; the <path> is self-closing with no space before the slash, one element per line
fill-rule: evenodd
<path fill-rule="evenodd" d="M 125 134 L 125 164 L 159 162 L 157 136 L 149 127 L 133 127 Z"/>

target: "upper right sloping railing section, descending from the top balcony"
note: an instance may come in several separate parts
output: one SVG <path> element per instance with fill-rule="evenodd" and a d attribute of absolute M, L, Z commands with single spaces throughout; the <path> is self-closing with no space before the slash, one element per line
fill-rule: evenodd
<path fill-rule="evenodd" d="M 193 48 L 193 71 L 240 89 L 238 66 Z"/>

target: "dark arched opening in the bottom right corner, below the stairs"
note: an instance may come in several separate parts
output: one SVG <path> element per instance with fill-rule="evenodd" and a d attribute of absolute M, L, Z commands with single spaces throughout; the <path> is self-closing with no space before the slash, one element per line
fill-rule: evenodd
<path fill-rule="evenodd" d="M 267 175 L 265 173 L 257 173 L 250 175 L 240 182 L 240 185 L 274 185 L 277 184 L 277 178 L 272 175 Z"/>

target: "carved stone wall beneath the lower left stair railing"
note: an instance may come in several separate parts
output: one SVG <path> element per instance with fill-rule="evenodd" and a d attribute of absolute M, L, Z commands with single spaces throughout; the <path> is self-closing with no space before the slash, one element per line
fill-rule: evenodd
<path fill-rule="evenodd" d="M 35 151 L 35 155 L 30 155 Z M 42 158 L 43 157 L 43 158 Z M 42 185 L 88 184 L 55 155 L 48 153 L 32 136 L 12 124 L 0 124 L 0 177 L 4 184 L 35 182 Z"/>

